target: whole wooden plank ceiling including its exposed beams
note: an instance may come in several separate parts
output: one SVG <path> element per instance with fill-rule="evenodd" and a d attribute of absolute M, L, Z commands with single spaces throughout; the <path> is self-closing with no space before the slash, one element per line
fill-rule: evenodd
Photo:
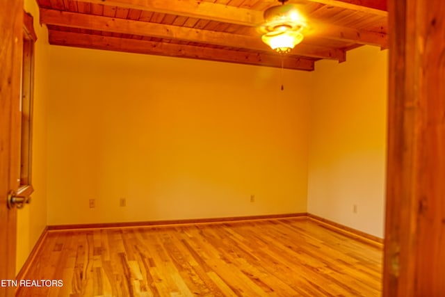
<path fill-rule="evenodd" d="M 361 45 L 387 48 L 387 0 L 290 0 L 311 30 L 284 67 L 346 61 Z M 281 67 L 257 30 L 275 0 L 38 0 L 51 45 Z"/>

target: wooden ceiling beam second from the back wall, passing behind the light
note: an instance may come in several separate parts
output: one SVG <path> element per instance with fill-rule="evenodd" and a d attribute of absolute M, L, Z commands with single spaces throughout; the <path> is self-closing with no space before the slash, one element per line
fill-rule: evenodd
<path fill-rule="evenodd" d="M 68 13 L 59 10 L 41 9 L 40 22 L 56 26 L 136 34 L 188 42 L 201 42 L 203 44 L 220 45 L 223 47 L 270 51 L 270 48 L 264 45 L 259 38 L 253 36 L 139 22 L 130 19 Z M 340 49 L 331 49 L 314 45 L 300 44 L 293 49 L 292 54 L 309 56 L 312 58 L 327 58 L 338 60 L 340 62 L 346 60 L 345 52 Z"/>

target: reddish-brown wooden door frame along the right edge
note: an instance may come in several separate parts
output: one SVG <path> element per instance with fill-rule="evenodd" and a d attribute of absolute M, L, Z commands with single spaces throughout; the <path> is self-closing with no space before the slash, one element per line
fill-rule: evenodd
<path fill-rule="evenodd" d="M 388 10 L 383 296 L 445 296 L 445 2 Z"/>

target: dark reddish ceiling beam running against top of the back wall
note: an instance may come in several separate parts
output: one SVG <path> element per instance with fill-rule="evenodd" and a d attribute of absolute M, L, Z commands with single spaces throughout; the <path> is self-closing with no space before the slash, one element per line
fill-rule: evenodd
<path fill-rule="evenodd" d="M 51 45 L 125 51 L 137 54 L 153 54 L 180 58 L 199 58 L 203 60 L 270 67 L 281 67 L 282 63 L 282 57 L 277 54 L 256 54 L 245 51 L 229 51 L 226 49 L 211 49 L 136 39 L 127 39 L 125 42 L 122 42 L 122 38 L 51 30 L 49 31 L 49 43 Z M 314 61 L 286 56 L 284 58 L 284 68 L 312 71 L 314 70 Z"/>

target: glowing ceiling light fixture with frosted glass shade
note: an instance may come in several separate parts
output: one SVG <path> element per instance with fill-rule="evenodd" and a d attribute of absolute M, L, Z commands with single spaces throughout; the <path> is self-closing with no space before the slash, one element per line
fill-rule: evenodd
<path fill-rule="evenodd" d="M 307 26 L 306 19 L 294 4 L 284 4 L 288 0 L 264 11 L 264 24 L 261 37 L 266 45 L 275 51 L 285 54 L 303 40 L 302 30 Z"/>

